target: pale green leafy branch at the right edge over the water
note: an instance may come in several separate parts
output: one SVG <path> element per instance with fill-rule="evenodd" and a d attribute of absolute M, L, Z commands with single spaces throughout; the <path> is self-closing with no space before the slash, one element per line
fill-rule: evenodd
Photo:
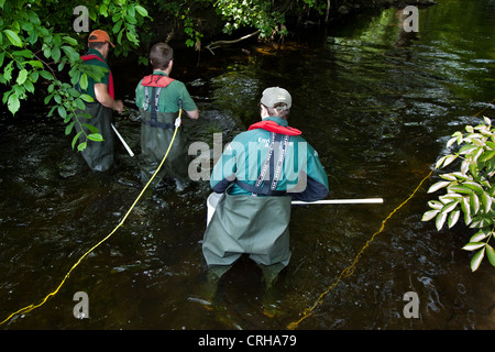
<path fill-rule="evenodd" d="M 495 231 L 495 127 L 484 118 L 484 123 L 466 125 L 465 132 L 455 132 L 447 147 L 458 144 L 459 151 L 441 157 L 436 167 L 442 168 L 460 161 L 459 170 L 440 175 L 443 179 L 433 184 L 428 193 L 447 189 L 439 200 L 428 202 L 431 208 L 422 216 L 422 221 L 433 220 L 437 230 L 446 224 L 452 228 L 463 215 L 466 226 L 477 229 L 462 249 L 476 251 L 471 260 L 471 270 L 480 267 L 485 254 L 495 266 L 495 251 L 488 243 Z M 461 146 L 462 145 L 462 146 Z"/>

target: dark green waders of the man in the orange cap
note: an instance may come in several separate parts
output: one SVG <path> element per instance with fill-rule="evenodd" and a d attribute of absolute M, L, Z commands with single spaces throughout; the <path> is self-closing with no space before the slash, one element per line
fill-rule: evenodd
<path fill-rule="evenodd" d="M 87 147 L 81 152 L 82 157 L 88 164 L 89 168 L 96 172 L 106 172 L 113 165 L 113 131 L 111 128 L 112 110 L 103 107 L 99 102 L 86 102 L 85 111 L 78 110 L 77 113 L 89 113 L 91 119 L 86 123 L 90 123 L 96 127 L 99 133 L 102 135 L 102 142 L 87 141 Z M 86 119 L 79 117 L 79 122 L 82 123 Z M 77 132 L 80 132 L 79 123 L 75 124 Z M 90 132 L 85 128 L 87 134 Z M 84 142 L 82 136 L 79 138 Z"/>

